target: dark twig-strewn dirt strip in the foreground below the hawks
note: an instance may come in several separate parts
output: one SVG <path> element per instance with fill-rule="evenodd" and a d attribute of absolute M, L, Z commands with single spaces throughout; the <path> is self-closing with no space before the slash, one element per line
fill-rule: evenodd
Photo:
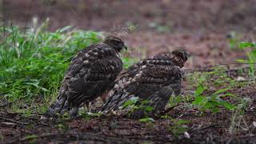
<path fill-rule="evenodd" d="M 255 88 L 244 87 L 233 91 L 252 100 L 243 114 L 244 122 L 234 126 L 234 134 L 230 134 L 234 113 L 222 110 L 221 113 L 202 114 L 182 104 L 166 115 L 177 120 L 189 120 L 185 125 L 188 135 L 175 135 L 174 130 L 180 127 L 174 127 L 177 123 L 170 118 L 154 118 L 154 122 L 139 122 L 121 116 L 50 120 L 36 114 L 24 117 L 2 109 L 2 143 L 255 143 Z"/>

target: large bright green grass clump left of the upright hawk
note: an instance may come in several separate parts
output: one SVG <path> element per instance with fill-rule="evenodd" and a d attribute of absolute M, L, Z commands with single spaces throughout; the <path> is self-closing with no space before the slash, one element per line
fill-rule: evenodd
<path fill-rule="evenodd" d="M 18 26 L 0 26 L 0 94 L 20 106 L 49 102 L 78 50 L 100 41 L 100 33 L 71 26 L 46 31 L 47 23 L 25 32 Z"/>

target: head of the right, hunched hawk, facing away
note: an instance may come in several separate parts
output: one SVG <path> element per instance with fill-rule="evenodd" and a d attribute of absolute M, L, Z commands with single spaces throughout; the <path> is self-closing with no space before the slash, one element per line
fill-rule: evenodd
<path fill-rule="evenodd" d="M 187 58 L 190 57 L 190 54 L 186 50 L 174 50 L 171 54 L 174 55 L 174 62 L 180 67 L 183 67 Z"/>

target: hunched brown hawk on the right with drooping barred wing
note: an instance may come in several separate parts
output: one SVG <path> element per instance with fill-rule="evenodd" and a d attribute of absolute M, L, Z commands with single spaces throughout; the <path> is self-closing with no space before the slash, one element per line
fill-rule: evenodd
<path fill-rule="evenodd" d="M 101 111 L 124 109 L 130 100 L 138 98 L 130 114 L 141 118 L 146 114 L 158 114 L 165 109 L 170 96 L 181 92 L 182 75 L 189 54 L 186 50 L 174 50 L 171 53 L 158 54 L 130 66 L 119 74 L 110 98 Z"/>

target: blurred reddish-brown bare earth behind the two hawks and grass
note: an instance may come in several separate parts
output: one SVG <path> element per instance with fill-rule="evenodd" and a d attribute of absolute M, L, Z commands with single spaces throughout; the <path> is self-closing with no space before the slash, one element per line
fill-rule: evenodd
<path fill-rule="evenodd" d="M 49 30 L 75 26 L 82 30 L 122 33 L 134 56 L 182 47 L 193 54 L 188 67 L 233 62 L 242 39 L 254 39 L 255 0 L 2 0 L 2 18 L 28 27 L 50 19 Z"/>

